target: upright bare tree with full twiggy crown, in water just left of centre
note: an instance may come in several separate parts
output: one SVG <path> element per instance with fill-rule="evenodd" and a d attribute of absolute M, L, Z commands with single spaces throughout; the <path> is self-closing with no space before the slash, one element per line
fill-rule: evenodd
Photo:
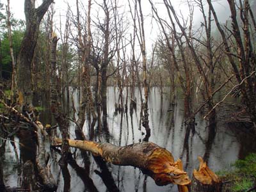
<path fill-rule="evenodd" d="M 95 86 L 95 102 L 97 107 L 98 125 L 101 128 L 101 111 L 103 115 L 103 127 L 108 128 L 106 118 L 107 111 L 107 82 L 108 78 L 115 74 L 108 74 L 109 63 L 113 61 L 113 57 L 116 54 L 116 38 L 115 38 L 115 20 L 113 3 L 111 1 L 104 0 L 102 4 L 97 3 L 100 10 L 104 13 L 104 19 L 99 17 L 99 13 L 96 17 L 97 22 L 93 20 L 95 24 L 93 45 L 92 45 L 92 63 L 96 70 L 97 82 Z M 118 34 L 120 35 L 120 34 Z M 120 36 L 118 37 L 120 38 Z M 120 40 L 118 41 L 120 43 Z"/>

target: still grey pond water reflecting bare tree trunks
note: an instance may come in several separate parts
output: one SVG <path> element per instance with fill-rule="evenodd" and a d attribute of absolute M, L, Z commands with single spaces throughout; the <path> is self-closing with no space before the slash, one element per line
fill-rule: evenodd
<path fill-rule="evenodd" d="M 73 90 L 71 88 L 71 90 Z M 78 92 L 73 90 L 72 97 L 74 104 L 78 109 Z M 125 98 L 124 91 L 124 98 Z M 95 134 L 93 140 L 109 141 L 115 145 L 129 145 L 138 143 L 145 137 L 145 129 L 139 129 L 140 122 L 140 94 L 136 89 L 137 109 L 132 113 L 128 109 L 128 113 L 115 113 L 115 102 L 118 101 L 118 90 L 114 87 L 108 88 L 108 132 Z M 195 133 L 187 132 L 184 127 L 184 111 L 182 98 L 176 99 L 175 103 L 170 103 L 168 90 L 164 94 L 163 99 L 160 97 L 159 88 L 152 88 L 148 100 L 149 108 L 149 124 L 151 136 L 149 141 L 166 148 L 172 152 L 175 161 L 182 159 L 184 170 L 190 175 L 194 168 L 198 167 L 198 156 L 209 157 L 209 167 L 214 170 L 223 170 L 229 168 L 230 163 L 236 161 L 241 150 L 241 143 L 237 141 L 234 133 L 227 125 L 218 122 L 216 134 L 209 135 L 207 122 L 202 116 L 196 116 Z M 70 102 L 70 105 L 72 102 Z M 129 106 L 129 105 L 128 105 Z M 47 114 L 46 114 L 47 115 Z M 51 118 L 44 118 L 42 114 L 42 123 L 51 124 Z M 76 138 L 74 134 L 75 124 L 70 122 L 70 138 Z M 84 124 L 84 133 L 88 135 L 88 126 Z M 185 139 L 186 138 L 186 139 Z M 19 140 L 15 139 L 17 142 Z M 50 143 L 50 142 L 49 142 Z M 49 143 L 45 150 L 51 154 L 51 170 L 54 178 L 58 181 L 58 191 L 63 191 L 63 178 L 58 166 L 58 155 L 51 152 Z M 75 150 L 72 149 L 72 152 Z M 18 148 L 19 153 L 19 148 Z M 54 160 L 57 157 L 57 161 Z M 136 158 L 136 157 L 135 157 Z M 83 166 L 83 159 L 79 150 L 76 150 L 76 161 Z M 90 173 L 94 185 L 98 191 L 108 191 L 106 185 L 99 176 L 100 168 L 90 156 Z M 17 166 L 15 153 L 10 143 L 6 146 L 6 153 L 3 162 L 4 166 L 4 181 L 6 186 L 20 185 L 20 167 Z M 88 191 L 87 186 L 84 186 L 83 181 L 77 175 L 75 170 L 68 166 L 71 175 L 71 191 Z M 108 164 L 108 170 L 111 172 L 115 185 L 120 191 L 177 191 L 177 186 L 157 186 L 153 179 L 144 175 L 138 168 L 131 166 L 115 166 Z M 99 172 L 97 172 L 99 171 Z M 106 176 L 108 177 L 108 176 Z"/>

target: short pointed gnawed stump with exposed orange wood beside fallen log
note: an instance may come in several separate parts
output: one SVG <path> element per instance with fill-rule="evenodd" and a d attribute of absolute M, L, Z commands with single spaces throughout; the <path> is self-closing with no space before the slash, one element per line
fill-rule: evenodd
<path fill-rule="evenodd" d="M 221 191 L 221 180 L 209 169 L 202 157 L 199 159 L 198 171 L 193 171 L 191 192 L 218 192 Z"/>

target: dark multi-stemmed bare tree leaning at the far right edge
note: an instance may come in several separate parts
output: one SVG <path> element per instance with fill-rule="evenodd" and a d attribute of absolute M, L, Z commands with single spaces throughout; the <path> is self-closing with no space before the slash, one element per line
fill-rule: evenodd
<path fill-rule="evenodd" d="M 250 8 L 250 3 L 248 0 L 239 1 L 240 19 L 243 29 L 243 33 L 241 33 L 237 17 L 236 2 L 234 0 L 228 0 L 232 21 L 232 31 L 230 31 L 230 33 L 236 42 L 236 52 L 232 50 L 228 43 L 228 38 L 224 29 L 221 27 L 211 0 L 207 0 L 207 3 L 211 9 L 216 26 L 220 31 L 225 46 L 225 53 L 227 54 L 228 61 L 236 76 L 237 83 L 241 90 L 243 103 L 246 106 L 246 112 L 250 115 L 254 128 L 253 131 L 256 134 L 256 78 L 255 75 L 250 75 L 256 70 L 255 48 L 252 45 L 252 33 L 255 33 L 256 28 L 255 17 Z M 249 27 L 250 20 L 252 20 L 253 23 L 253 28 L 251 29 Z M 239 64 L 239 68 L 236 63 Z"/>

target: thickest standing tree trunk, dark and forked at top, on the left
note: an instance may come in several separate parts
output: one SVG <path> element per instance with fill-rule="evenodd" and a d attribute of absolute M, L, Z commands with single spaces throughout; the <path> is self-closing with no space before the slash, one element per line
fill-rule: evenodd
<path fill-rule="evenodd" d="M 35 0 L 25 0 L 26 31 L 17 60 L 17 89 L 21 107 L 32 104 L 31 63 L 38 40 L 40 22 L 53 0 L 44 0 L 35 8 Z"/>

